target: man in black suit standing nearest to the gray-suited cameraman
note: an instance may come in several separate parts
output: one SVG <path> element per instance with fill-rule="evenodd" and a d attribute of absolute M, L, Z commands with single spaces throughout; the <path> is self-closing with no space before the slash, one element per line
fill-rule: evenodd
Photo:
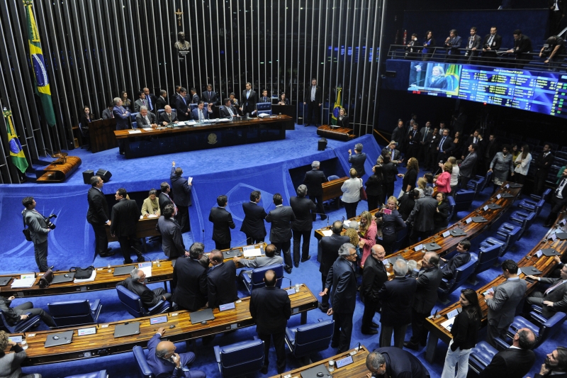
<path fill-rule="evenodd" d="M 114 255 L 108 248 L 108 238 L 106 238 L 106 228 L 104 225 L 111 225 L 111 217 L 108 213 L 108 204 L 102 192 L 104 182 L 100 176 L 91 177 L 91 189 L 86 199 L 89 201 L 89 210 L 86 211 L 86 221 L 91 223 L 94 230 L 95 248 L 94 252 L 101 257 Z"/>

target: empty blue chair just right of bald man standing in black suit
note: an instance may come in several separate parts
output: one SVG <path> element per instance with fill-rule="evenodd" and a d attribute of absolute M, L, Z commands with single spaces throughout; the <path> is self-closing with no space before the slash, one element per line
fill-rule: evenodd
<path fill-rule="evenodd" d="M 286 344 L 291 354 L 303 357 L 329 348 L 335 321 L 318 319 L 318 323 L 286 328 Z"/>

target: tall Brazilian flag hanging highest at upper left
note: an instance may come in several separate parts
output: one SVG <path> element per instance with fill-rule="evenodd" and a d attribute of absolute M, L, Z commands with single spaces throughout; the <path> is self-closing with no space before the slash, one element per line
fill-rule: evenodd
<path fill-rule="evenodd" d="M 33 65 L 33 73 L 35 74 L 35 94 L 40 96 L 43 113 L 49 126 L 55 126 L 55 112 L 53 111 L 53 103 L 51 101 L 51 89 L 49 87 L 49 77 L 47 77 L 47 69 L 45 68 L 45 60 L 43 60 L 43 52 L 41 51 L 40 33 L 38 25 L 33 17 L 33 8 L 31 0 L 24 0 L 26 7 L 26 15 L 28 17 L 28 43 L 30 45 L 30 61 Z"/>

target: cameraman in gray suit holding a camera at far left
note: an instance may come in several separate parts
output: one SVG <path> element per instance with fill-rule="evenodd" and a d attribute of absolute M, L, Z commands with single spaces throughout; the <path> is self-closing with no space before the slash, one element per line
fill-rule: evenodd
<path fill-rule="evenodd" d="M 35 263 L 38 265 L 40 272 L 47 272 L 47 233 L 51 229 L 47 226 L 47 222 L 43 215 L 35 210 L 35 199 L 26 197 L 22 199 L 22 205 L 26 208 L 22 211 L 23 222 L 30 228 L 30 236 L 35 250 Z"/>

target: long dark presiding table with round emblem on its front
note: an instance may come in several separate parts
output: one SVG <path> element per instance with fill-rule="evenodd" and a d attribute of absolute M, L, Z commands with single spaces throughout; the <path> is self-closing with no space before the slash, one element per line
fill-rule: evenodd
<path fill-rule="evenodd" d="M 286 138 L 286 128 L 293 129 L 290 116 L 271 116 L 242 121 L 196 123 L 192 126 L 159 127 L 152 129 L 115 130 L 123 140 L 125 157 L 145 157 L 206 150 L 208 148 L 266 142 Z"/>

